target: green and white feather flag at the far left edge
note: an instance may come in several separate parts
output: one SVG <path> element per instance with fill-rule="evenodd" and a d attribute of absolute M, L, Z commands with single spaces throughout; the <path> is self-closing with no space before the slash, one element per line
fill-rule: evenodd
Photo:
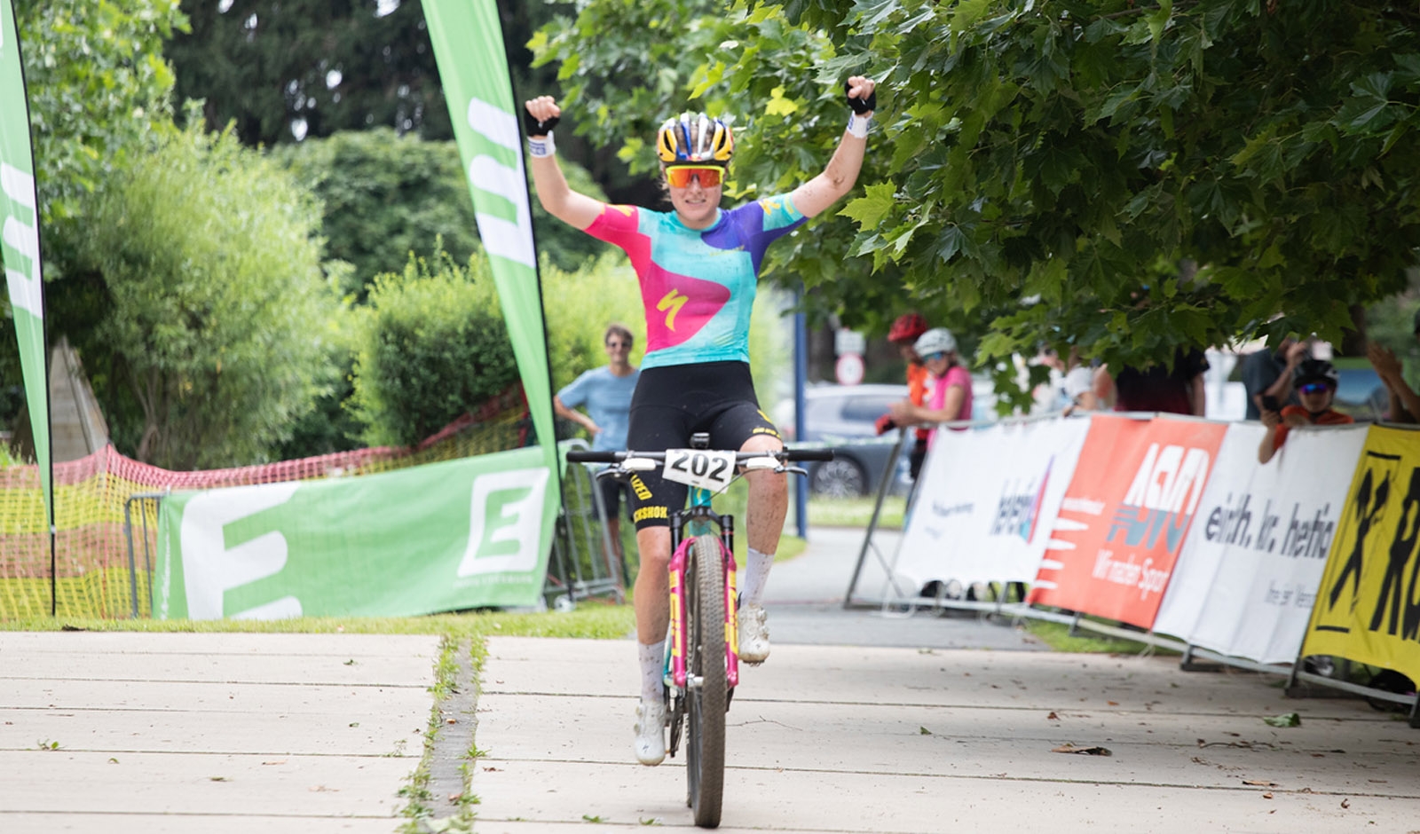
<path fill-rule="evenodd" d="M 50 484 L 50 397 L 44 349 L 44 281 L 40 271 L 40 211 L 30 150 L 30 105 L 24 96 L 20 34 L 10 0 L 0 0 L 0 218 L 10 315 L 20 340 L 24 399 L 40 464 L 45 518 L 54 525 Z"/>

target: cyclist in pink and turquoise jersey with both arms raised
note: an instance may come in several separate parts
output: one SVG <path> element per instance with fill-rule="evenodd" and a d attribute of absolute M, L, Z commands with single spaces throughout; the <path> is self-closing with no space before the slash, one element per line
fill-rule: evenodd
<path fill-rule="evenodd" d="M 788 194 L 723 211 L 721 180 L 734 155 L 734 133 L 720 119 L 682 113 L 656 133 L 656 153 L 672 211 L 608 206 L 574 191 L 557 165 L 552 128 L 561 108 L 552 96 L 525 102 L 532 183 L 538 201 L 558 220 L 630 257 L 646 312 L 646 355 L 630 404 L 628 444 L 639 451 L 684 447 L 696 431 L 711 448 L 782 448 L 760 410 L 750 379 L 750 309 L 764 250 L 852 190 L 863 162 L 875 82 L 855 75 L 845 84 L 848 129 L 824 173 Z M 748 559 L 740 583 L 740 658 L 770 654 L 761 597 L 788 511 L 782 474 L 746 475 L 750 489 Z M 632 478 L 632 519 L 640 572 L 636 576 L 636 635 L 640 702 L 636 759 L 666 756 L 662 664 L 670 618 L 669 508 L 683 506 L 686 486 L 643 472 Z"/>

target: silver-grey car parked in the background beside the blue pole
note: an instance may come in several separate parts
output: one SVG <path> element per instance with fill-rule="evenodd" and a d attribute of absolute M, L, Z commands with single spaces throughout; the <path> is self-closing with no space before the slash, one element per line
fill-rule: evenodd
<path fill-rule="evenodd" d="M 907 488 L 907 455 L 888 472 L 888 460 L 897 443 L 896 433 L 878 435 L 878 418 L 888 406 L 907 397 L 907 386 L 815 386 L 804 391 L 805 443 L 822 443 L 835 451 L 832 461 L 808 464 L 809 489 L 816 495 L 873 495 L 883 477 L 893 478 L 893 491 Z M 794 438 L 794 400 L 781 403 L 775 423 Z M 910 441 L 909 441 L 910 443 Z"/>

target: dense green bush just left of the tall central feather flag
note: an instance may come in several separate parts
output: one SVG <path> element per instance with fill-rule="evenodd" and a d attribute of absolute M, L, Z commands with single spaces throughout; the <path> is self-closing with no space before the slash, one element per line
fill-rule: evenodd
<path fill-rule="evenodd" d="M 486 255 L 412 257 L 356 312 L 346 407 L 371 445 L 413 445 L 518 379 Z"/>

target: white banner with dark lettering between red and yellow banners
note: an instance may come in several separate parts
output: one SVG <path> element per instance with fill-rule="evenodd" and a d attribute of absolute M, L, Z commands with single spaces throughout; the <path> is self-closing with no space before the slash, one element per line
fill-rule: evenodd
<path fill-rule="evenodd" d="M 1264 433 L 1228 426 L 1153 627 L 1275 664 L 1302 647 L 1366 427 L 1295 430 L 1258 465 Z"/>

